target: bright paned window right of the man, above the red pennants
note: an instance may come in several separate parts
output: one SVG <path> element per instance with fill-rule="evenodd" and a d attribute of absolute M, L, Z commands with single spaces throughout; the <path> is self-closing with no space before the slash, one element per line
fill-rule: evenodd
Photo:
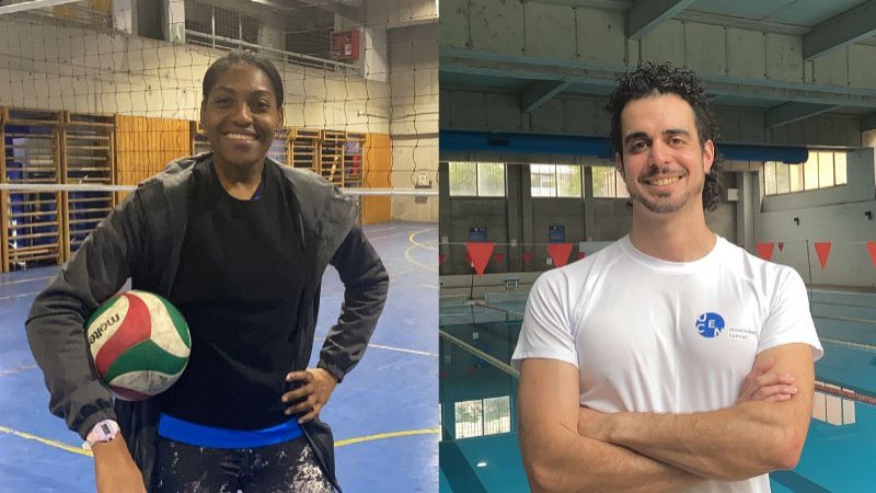
<path fill-rule="evenodd" d="M 845 151 L 809 151 L 803 164 L 763 163 L 764 195 L 780 195 L 844 185 Z"/>

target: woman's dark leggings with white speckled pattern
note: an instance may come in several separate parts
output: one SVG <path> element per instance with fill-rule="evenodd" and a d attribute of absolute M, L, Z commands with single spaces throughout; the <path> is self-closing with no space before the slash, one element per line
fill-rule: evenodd
<path fill-rule="evenodd" d="M 306 438 L 258 448 L 205 448 L 159 437 L 155 493 L 332 493 Z"/>

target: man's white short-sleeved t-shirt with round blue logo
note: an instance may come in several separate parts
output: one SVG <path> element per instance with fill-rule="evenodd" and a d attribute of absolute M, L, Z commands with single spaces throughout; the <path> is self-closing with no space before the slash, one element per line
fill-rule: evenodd
<path fill-rule="evenodd" d="M 629 237 L 549 271 L 529 295 L 512 356 L 580 372 L 580 403 L 602 412 L 692 413 L 733 405 L 762 351 L 818 341 L 791 267 L 717 238 L 694 262 L 646 255 Z M 694 492 L 769 492 L 766 474 Z"/>

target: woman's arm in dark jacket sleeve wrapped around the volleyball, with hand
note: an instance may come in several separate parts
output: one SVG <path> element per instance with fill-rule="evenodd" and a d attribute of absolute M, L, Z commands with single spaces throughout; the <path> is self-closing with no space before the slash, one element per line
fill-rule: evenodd
<path fill-rule="evenodd" d="M 84 321 L 143 262 L 146 238 L 143 205 L 139 193 L 134 193 L 94 229 L 37 295 L 25 322 L 27 342 L 49 391 L 49 410 L 83 439 L 99 422 L 116 419 L 112 394 L 100 381 L 89 355 Z M 111 463 L 134 466 L 127 448 L 118 447 L 124 439 L 108 447 L 111 444 L 95 445 L 99 484 L 101 471 Z"/>

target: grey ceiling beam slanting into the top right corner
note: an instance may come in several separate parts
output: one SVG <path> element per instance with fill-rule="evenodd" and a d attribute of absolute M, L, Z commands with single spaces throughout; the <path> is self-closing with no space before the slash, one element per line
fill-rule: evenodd
<path fill-rule="evenodd" d="M 804 58 L 815 58 L 876 35 L 876 0 L 829 19 L 803 36 Z"/>

